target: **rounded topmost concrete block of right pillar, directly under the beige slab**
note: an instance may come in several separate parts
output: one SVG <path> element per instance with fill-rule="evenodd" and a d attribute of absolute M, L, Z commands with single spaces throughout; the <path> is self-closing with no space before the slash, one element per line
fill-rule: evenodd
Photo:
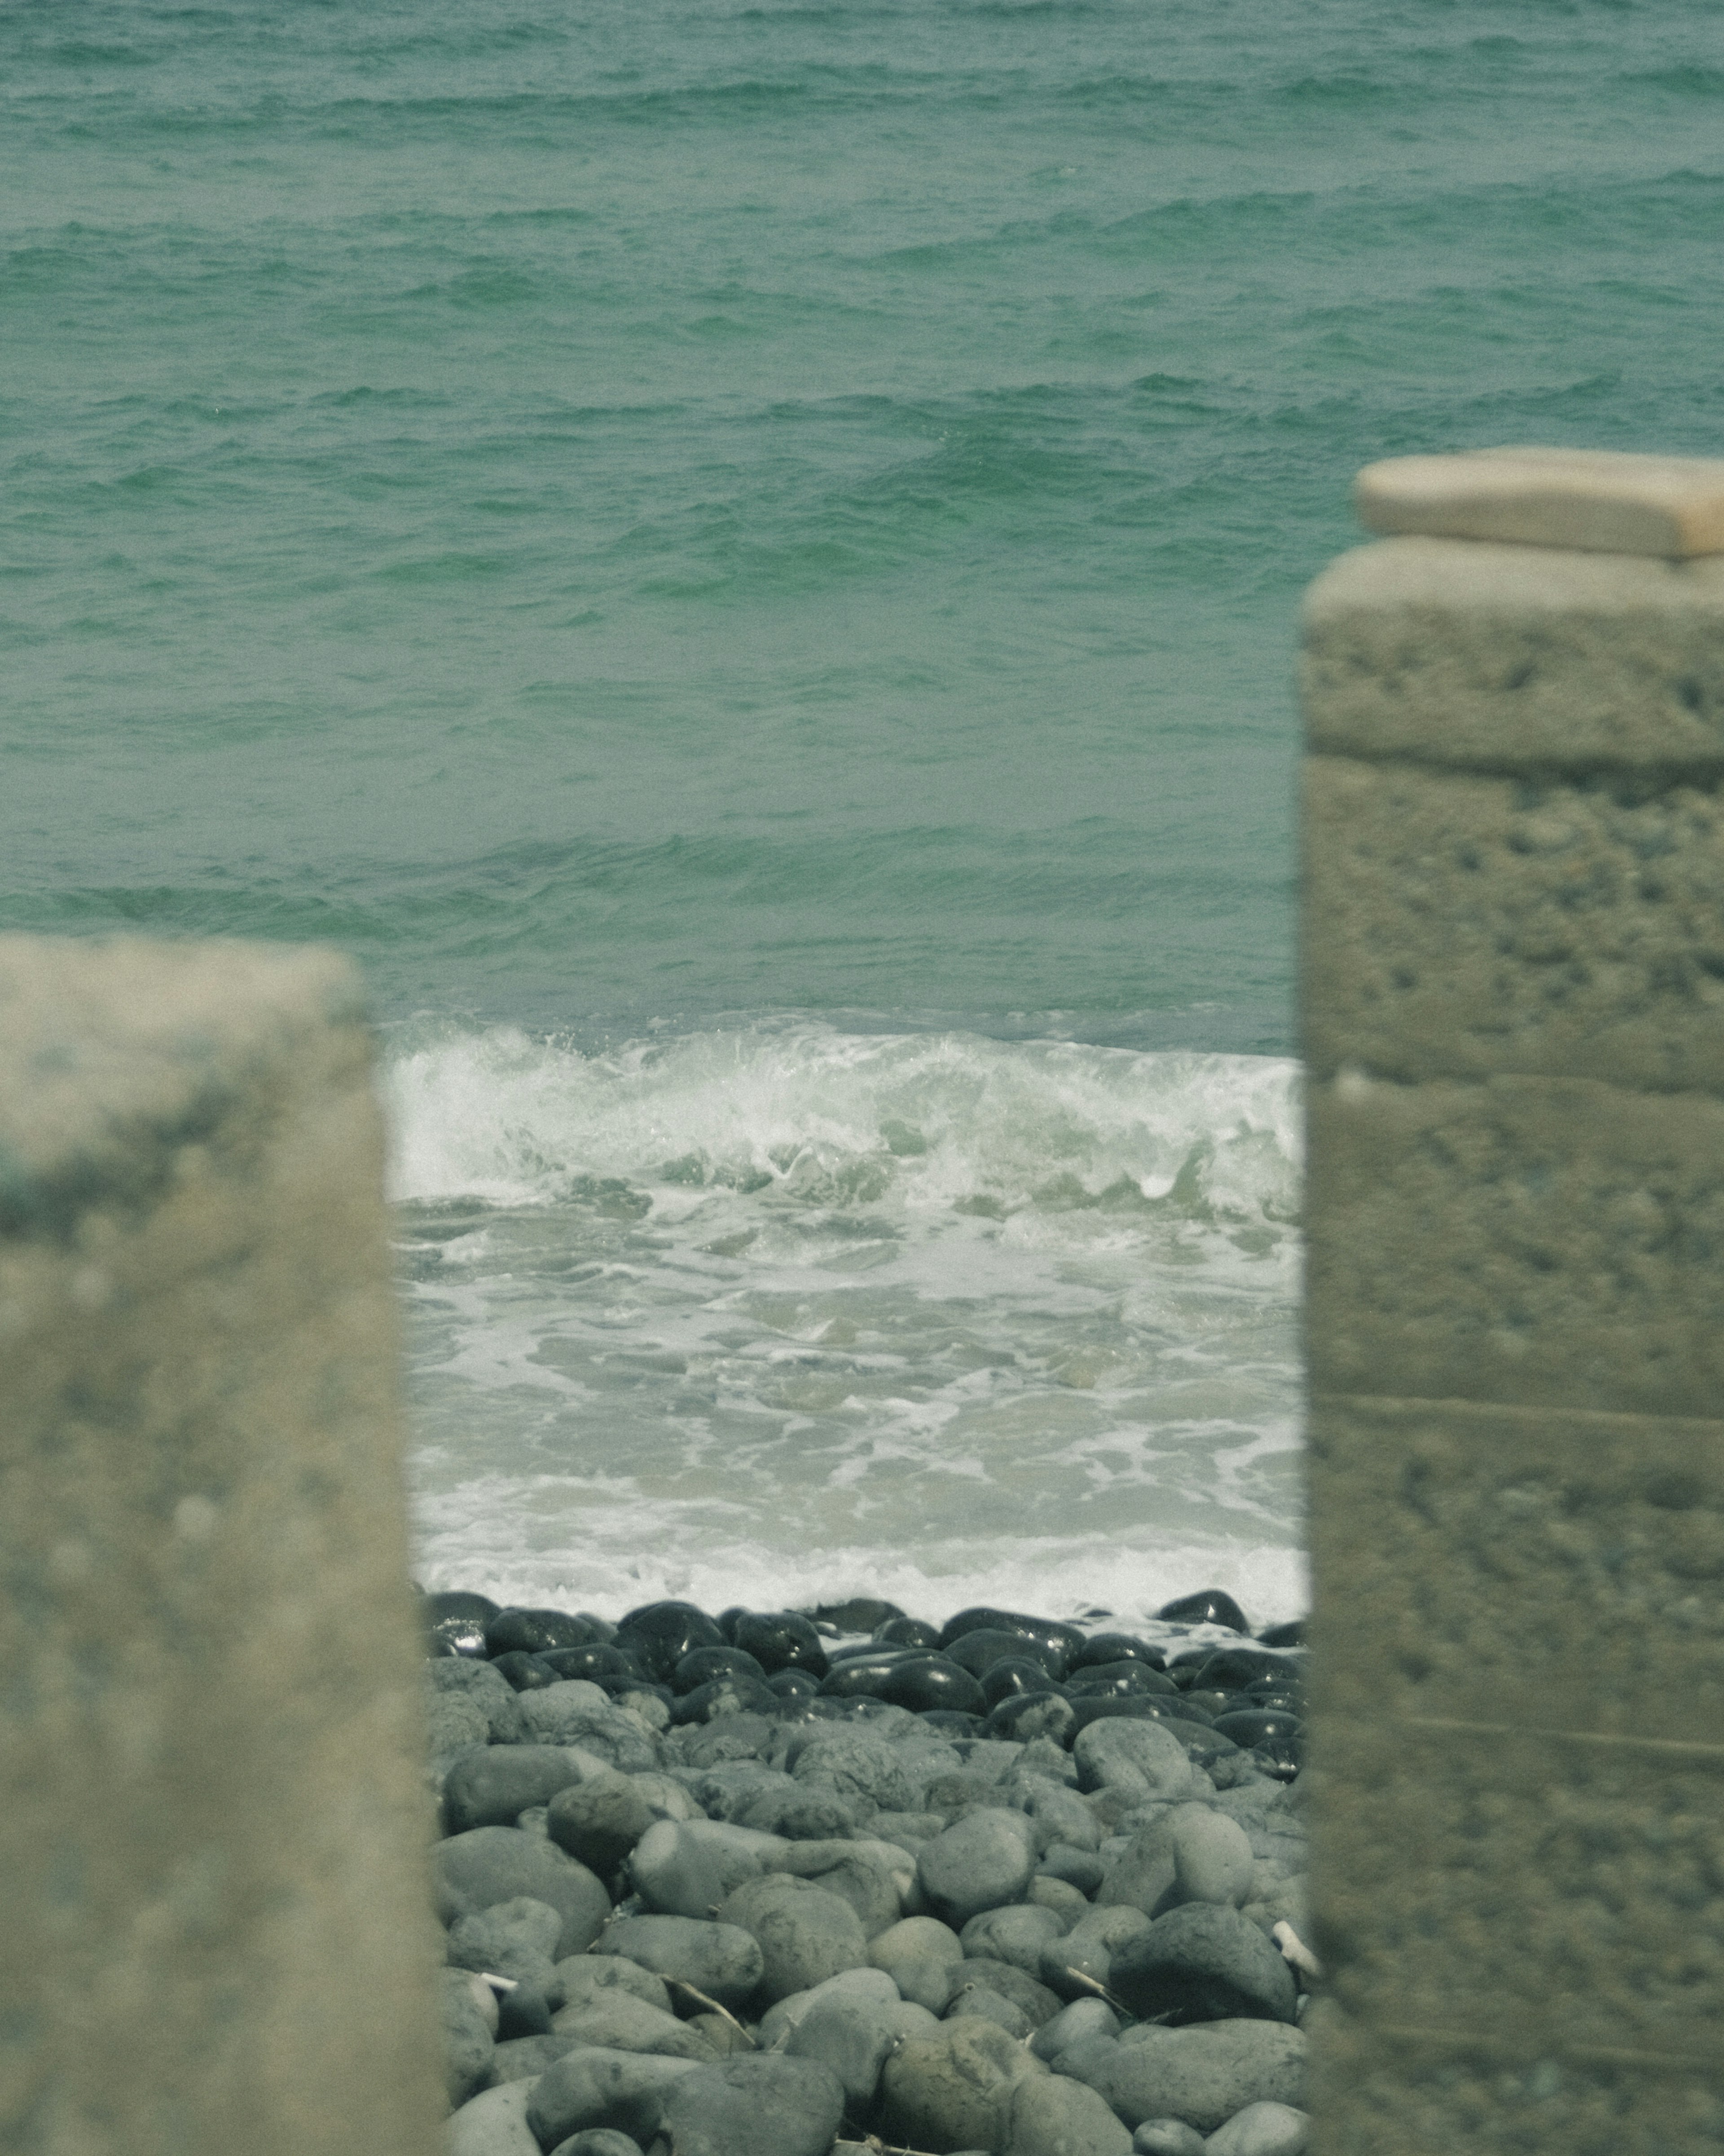
<path fill-rule="evenodd" d="M 1310 586 L 1310 748 L 1480 772 L 1724 772 L 1724 556 L 1384 539 Z"/>

